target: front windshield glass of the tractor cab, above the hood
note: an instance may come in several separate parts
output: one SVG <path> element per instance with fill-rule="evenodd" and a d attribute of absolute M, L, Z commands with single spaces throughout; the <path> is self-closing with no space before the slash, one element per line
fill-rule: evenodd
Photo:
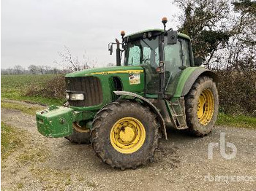
<path fill-rule="evenodd" d="M 159 37 L 154 39 L 138 39 L 127 43 L 124 66 L 151 65 L 157 68 L 159 64 Z"/>

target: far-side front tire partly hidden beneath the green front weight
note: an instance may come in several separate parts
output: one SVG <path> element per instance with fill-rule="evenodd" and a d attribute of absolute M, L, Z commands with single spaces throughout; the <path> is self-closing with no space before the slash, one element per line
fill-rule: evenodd
<path fill-rule="evenodd" d="M 76 144 L 90 144 L 90 132 L 80 133 L 73 128 L 73 133 L 70 136 L 65 136 L 67 140 Z"/>

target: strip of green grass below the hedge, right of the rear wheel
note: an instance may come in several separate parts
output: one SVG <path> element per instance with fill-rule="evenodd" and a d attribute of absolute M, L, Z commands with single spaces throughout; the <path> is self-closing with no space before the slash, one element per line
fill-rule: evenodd
<path fill-rule="evenodd" d="M 256 129 L 256 117 L 245 115 L 232 116 L 230 114 L 219 113 L 217 125 Z"/>

